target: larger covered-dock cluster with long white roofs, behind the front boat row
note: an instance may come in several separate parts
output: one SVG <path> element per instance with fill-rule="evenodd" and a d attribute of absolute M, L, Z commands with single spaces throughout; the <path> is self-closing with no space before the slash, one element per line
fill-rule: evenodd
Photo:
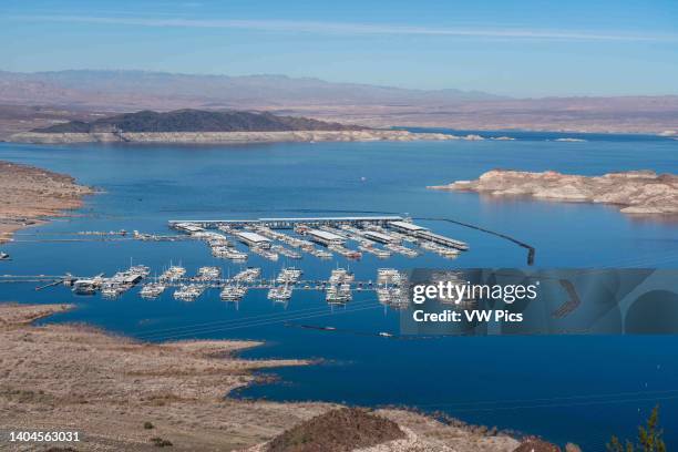
<path fill-rule="evenodd" d="M 271 261 L 277 261 L 280 256 L 301 259 L 302 253 L 319 259 L 338 255 L 358 260 L 363 254 L 388 259 L 394 254 L 415 258 L 425 251 L 455 258 L 460 251 L 469 250 L 464 242 L 434 234 L 396 216 L 170 220 L 168 226 L 187 237 L 208 242 L 213 256 L 235 261 L 246 260 L 248 253 L 237 250 L 226 236 L 208 229 L 235 237 L 250 253 Z"/>

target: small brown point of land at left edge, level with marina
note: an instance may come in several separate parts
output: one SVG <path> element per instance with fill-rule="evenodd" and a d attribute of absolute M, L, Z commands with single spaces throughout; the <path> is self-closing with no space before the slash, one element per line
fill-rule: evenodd
<path fill-rule="evenodd" d="M 80 207 L 92 193 L 71 176 L 0 161 L 0 243 L 17 229 Z"/>

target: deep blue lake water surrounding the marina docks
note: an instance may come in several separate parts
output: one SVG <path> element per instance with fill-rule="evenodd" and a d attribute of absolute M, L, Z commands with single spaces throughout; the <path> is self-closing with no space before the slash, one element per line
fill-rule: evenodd
<path fill-rule="evenodd" d="M 637 219 L 613 206 L 528 199 L 489 199 L 475 194 L 434 192 L 427 185 L 475 178 L 492 168 L 556 170 L 597 175 L 649 168 L 676 172 L 678 142 L 651 136 L 562 136 L 506 133 L 513 142 L 317 143 L 246 146 L 0 144 L 0 160 L 38 165 L 75 176 L 104 193 L 90 196 L 78 216 L 55 219 L 16 235 L 3 246 L 13 260 L 0 274 L 112 274 L 130 260 L 161 271 L 170 261 L 240 266 L 210 256 L 199 242 L 44 242 L 78 230 L 167 233 L 168 219 L 256 218 L 409 214 L 450 217 L 520 238 L 536 247 L 536 266 L 678 267 L 678 222 Z M 499 133 L 497 135 L 505 135 Z M 567 135 L 573 136 L 573 135 Z M 357 278 L 376 269 L 413 267 L 523 267 L 525 250 L 497 237 L 441 222 L 418 222 L 468 242 L 456 260 L 427 254 L 414 260 L 366 256 L 358 263 L 300 266 L 305 278 L 349 265 Z M 273 264 L 247 265 L 275 275 Z M 248 338 L 266 345 L 244 353 L 264 358 L 318 358 L 322 363 L 276 369 L 270 384 L 239 397 L 329 400 L 362 405 L 402 404 L 442 410 L 472 423 L 573 441 L 604 450 L 615 433 L 633 436 L 651 407 L 678 419 L 676 337 L 459 337 L 388 339 L 399 314 L 360 292 L 345 308 L 329 308 L 319 292 L 296 292 L 287 306 L 250 291 L 237 306 L 206 292 L 194 302 L 167 291 L 143 300 L 136 289 L 115 300 L 75 297 L 65 287 L 35 291 L 33 284 L 2 285 L 0 300 L 75 302 L 78 309 L 44 320 L 86 321 L 146 340 Z M 337 331 L 299 328 L 332 326 Z M 678 432 L 667 431 L 669 450 Z"/>

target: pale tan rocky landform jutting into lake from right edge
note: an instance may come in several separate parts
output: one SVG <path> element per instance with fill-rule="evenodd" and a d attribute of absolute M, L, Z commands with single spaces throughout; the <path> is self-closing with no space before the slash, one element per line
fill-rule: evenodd
<path fill-rule="evenodd" d="M 578 176 L 555 171 L 530 173 L 493 170 L 476 181 L 458 181 L 431 189 L 476 192 L 494 196 L 531 196 L 538 199 L 603 203 L 625 214 L 678 214 L 678 175 L 653 171 Z"/>

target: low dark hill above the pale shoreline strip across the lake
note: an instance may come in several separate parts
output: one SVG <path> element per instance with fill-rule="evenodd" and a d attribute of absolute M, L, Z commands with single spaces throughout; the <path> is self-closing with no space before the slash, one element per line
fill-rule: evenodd
<path fill-rule="evenodd" d="M 35 129 L 41 133 L 104 133 L 104 132 L 285 132 L 285 131 L 347 131 L 363 127 L 328 123 L 270 113 L 207 112 L 177 110 L 158 113 L 141 111 L 102 117 L 92 122 L 71 121 Z"/>

